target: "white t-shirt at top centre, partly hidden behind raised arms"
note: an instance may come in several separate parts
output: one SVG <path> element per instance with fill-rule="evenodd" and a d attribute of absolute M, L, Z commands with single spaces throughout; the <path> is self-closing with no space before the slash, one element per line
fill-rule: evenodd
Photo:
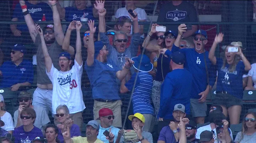
<path fill-rule="evenodd" d="M 137 7 L 134 11 L 137 12 L 137 14 L 138 14 L 138 21 L 147 20 L 148 16 L 146 15 L 146 12 L 145 12 L 144 9 Z M 118 10 L 116 11 L 115 17 L 118 18 L 120 16 L 127 16 L 127 17 L 130 18 L 128 10 L 126 9 L 126 7 L 118 8 Z M 131 28 L 131 34 L 132 33 L 133 33 L 133 30 Z"/>

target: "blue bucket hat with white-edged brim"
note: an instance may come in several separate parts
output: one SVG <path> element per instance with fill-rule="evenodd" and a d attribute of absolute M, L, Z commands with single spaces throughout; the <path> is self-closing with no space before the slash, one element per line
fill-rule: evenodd
<path fill-rule="evenodd" d="M 139 69 L 139 62 L 140 59 L 142 58 L 142 62 L 140 64 L 140 69 Z M 134 61 L 133 67 L 139 71 L 142 72 L 149 72 L 153 69 L 153 64 L 150 62 L 150 59 L 146 55 L 139 55 L 138 57 L 133 57 L 132 60 Z"/>

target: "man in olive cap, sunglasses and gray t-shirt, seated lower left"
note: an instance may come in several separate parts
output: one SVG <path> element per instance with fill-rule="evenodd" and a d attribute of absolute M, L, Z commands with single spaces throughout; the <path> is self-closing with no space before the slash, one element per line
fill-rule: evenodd
<path fill-rule="evenodd" d="M 34 126 L 40 128 L 44 133 L 44 127 L 48 125 L 50 119 L 47 115 L 47 112 L 41 106 L 32 105 L 32 95 L 28 91 L 21 91 L 18 96 L 18 101 L 20 106 L 18 110 L 14 112 L 14 126 L 15 128 L 20 127 L 22 125 L 22 120 L 20 117 L 20 113 L 26 107 L 30 107 L 36 111 L 37 118 L 35 119 Z"/>

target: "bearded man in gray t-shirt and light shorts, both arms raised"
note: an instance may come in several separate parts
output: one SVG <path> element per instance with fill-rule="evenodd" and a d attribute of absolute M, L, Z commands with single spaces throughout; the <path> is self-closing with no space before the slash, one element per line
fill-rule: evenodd
<path fill-rule="evenodd" d="M 58 55 L 63 52 L 62 43 L 64 40 L 64 33 L 62 31 L 62 25 L 60 24 L 60 16 L 56 6 L 56 0 L 49 0 L 49 3 L 52 7 L 53 11 L 53 23 L 47 25 L 43 29 L 44 36 L 44 44 L 49 52 L 50 58 L 52 58 L 52 62 L 54 67 L 59 69 L 58 66 Z M 33 105 L 41 106 L 46 111 L 52 111 L 52 89 L 53 85 L 48 76 L 46 75 L 46 65 L 44 63 L 44 55 L 42 51 L 42 44 L 40 35 L 37 34 L 36 27 L 34 25 L 34 21 L 30 16 L 30 13 L 27 10 L 27 6 L 24 0 L 20 0 L 20 5 L 22 7 L 22 12 L 25 18 L 25 21 L 28 26 L 28 30 L 30 32 L 30 36 L 34 42 L 35 47 L 37 48 L 37 88 L 33 94 Z M 73 55 L 73 51 L 69 49 L 68 52 Z M 48 110 L 47 110 L 48 109 Z"/>

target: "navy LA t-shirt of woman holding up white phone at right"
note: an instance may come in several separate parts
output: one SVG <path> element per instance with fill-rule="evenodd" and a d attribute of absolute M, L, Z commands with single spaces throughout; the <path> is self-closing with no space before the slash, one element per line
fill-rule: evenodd
<path fill-rule="evenodd" d="M 229 64 L 223 66 L 223 59 L 217 58 L 218 66 L 217 91 L 226 91 L 239 99 L 243 97 L 242 75 L 245 74 L 244 62 L 239 61 L 233 72 L 229 71 Z"/>

